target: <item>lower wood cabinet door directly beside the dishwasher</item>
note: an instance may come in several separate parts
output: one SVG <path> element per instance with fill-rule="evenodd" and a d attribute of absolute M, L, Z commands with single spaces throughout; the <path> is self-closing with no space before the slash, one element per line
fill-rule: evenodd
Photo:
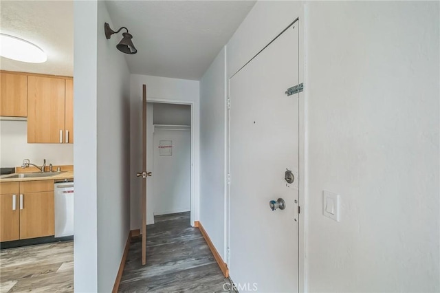
<path fill-rule="evenodd" d="M 20 206 L 20 239 L 54 234 L 54 192 L 24 193 Z"/>

